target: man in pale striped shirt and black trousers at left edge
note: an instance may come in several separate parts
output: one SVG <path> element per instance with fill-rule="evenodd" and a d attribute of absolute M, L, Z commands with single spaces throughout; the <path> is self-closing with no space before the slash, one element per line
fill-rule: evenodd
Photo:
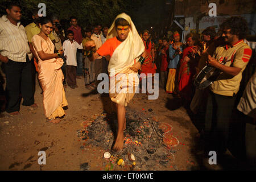
<path fill-rule="evenodd" d="M 32 87 L 32 53 L 25 28 L 20 24 L 20 6 L 11 3 L 6 12 L 0 18 L 0 60 L 5 63 L 6 111 L 16 115 L 20 109 L 20 92 L 22 105 L 37 108 Z"/>

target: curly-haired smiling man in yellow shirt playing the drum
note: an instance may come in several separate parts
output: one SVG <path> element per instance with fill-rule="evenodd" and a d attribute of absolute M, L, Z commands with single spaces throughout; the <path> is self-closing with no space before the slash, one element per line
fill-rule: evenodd
<path fill-rule="evenodd" d="M 251 57 L 251 48 L 243 42 L 247 22 L 241 16 L 233 16 L 221 24 L 226 45 L 217 47 L 207 63 L 220 69 L 216 81 L 210 85 L 205 113 L 205 152 L 224 154 L 228 143 L 229 120 L 232 116 L 236 94 L 242 80 L 242 72 Z M 226 61 L 226 64 L 221 64 Z"/>

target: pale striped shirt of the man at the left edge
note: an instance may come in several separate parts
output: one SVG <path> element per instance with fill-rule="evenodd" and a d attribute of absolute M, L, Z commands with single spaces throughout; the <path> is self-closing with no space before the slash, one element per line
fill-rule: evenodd
<path fill-rule="evenodd" d="M 26 62 L 27 54 L 32 58 L 25 28 L 20 22 L 15 26 L 6 15 L 0 18 L 0 53 L 16 62 Z"/>

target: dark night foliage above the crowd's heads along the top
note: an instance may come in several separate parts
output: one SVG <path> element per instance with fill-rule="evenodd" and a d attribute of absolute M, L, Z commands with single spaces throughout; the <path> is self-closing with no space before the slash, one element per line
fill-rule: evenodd
<path fill-rule="evenodd" d="M 175 1 L 172 0 L 3 0 L 0 5 L 0 15 L 6 13 L 5 7 L 10 2 L 22 6 L 22 24 L 26 26 L 32 22 L 31 13 L 39 10 L 38 4 L 46 4 L 46 15 L 56 14 L 65 28 L 69 26 L 69 17 L 76 16 L 81 27 L 101 24 L 110 27 L 115 16 L 126 13 L 131 16 L 139 32 L 151 30 L 154 36 L 164 34 L 167 24 L 171 24 Z M 152 28 L 151 28 L 152 27 Z M 162 35 L 161 35 L 162 36 Z"/>

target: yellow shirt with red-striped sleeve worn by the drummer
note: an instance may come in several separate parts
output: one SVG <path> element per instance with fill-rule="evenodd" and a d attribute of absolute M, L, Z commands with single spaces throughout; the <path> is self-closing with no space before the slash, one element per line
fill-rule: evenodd
<path fill-rule="evenodd" d="M 216 81 L 210 85 L 210 90 L 222 96 L 233 96 L 234 93 L 237 94 L 242 80 L 242 72 L 245 70 L 251 57 L 251 48 L 243 40 L 240 40 L 229 48 L 226 46 L 217 47 L 214 57 L 220 63 L 224 59 L 230 60 L 225 64 L 227 67 L 237 67 L 242 70 L 236 76 L 230 76 L 221 72 Z"/>

